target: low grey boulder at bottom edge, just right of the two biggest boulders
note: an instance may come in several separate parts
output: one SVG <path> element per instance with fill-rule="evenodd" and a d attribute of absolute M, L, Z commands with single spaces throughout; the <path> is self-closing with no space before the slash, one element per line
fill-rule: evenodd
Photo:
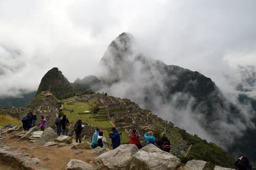
<path fill-rule="evenodd" d="M 206 161 L 191 160 L 184 166 L 185 170 L 213 170 L 211 164 Z"/>

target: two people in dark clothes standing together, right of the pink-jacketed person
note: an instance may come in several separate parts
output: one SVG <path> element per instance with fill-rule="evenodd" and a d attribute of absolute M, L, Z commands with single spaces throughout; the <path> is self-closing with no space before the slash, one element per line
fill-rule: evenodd
<path fill-rule="evenodd" d="M 61 130 L 62 130 L 62 135 L 66 135 L 69 131 L 69 120 L 67 119 L 66 115 L 62 116 L 61 119 L 61 114 L 58 115 L 57 119 L 55 120 L 55 125 L 57 126 L 57 135 L 61 135 Z"/>

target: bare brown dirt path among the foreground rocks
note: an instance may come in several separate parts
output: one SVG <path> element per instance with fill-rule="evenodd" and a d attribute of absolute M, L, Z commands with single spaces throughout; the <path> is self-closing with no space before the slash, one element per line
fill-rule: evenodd
<path fill-rule="evenodd" d="M 17 139 L 9 139 L 9 134 L 5 135 L 5 137 L 6 139 L 3 139 L 3 141 L 6 143 L 6 146 L 10 147 L 11 151 L 20 149 L 21 152 L 26 153 L 28 156 L 34 156 L 35 158 L 41 159 L 39 164 L 32 166 L 35 169 L 45 168 L 48 170 L 66 170 L 66 165 L 70 159 L 80 159 L 91 164 L 93 167 L 96 167 L 93 163 L 93 159 L 98 155 L 93 154 L 91 150 L 79 150 L 81 153 L 75 154 L 73 153 L 73 150 L 70 149 L 70 146 L 57 147 L 57 145 L 54 145 L 41 147 L 41 145 L 29 143 L 29 141 L 26 142 L 17 141 Z M 32 146 L 36 147 L 36 149 L 26 149 L 26 147 Z M 42 160 L 44 158 L 48 158 L 49 160 Z"/>

